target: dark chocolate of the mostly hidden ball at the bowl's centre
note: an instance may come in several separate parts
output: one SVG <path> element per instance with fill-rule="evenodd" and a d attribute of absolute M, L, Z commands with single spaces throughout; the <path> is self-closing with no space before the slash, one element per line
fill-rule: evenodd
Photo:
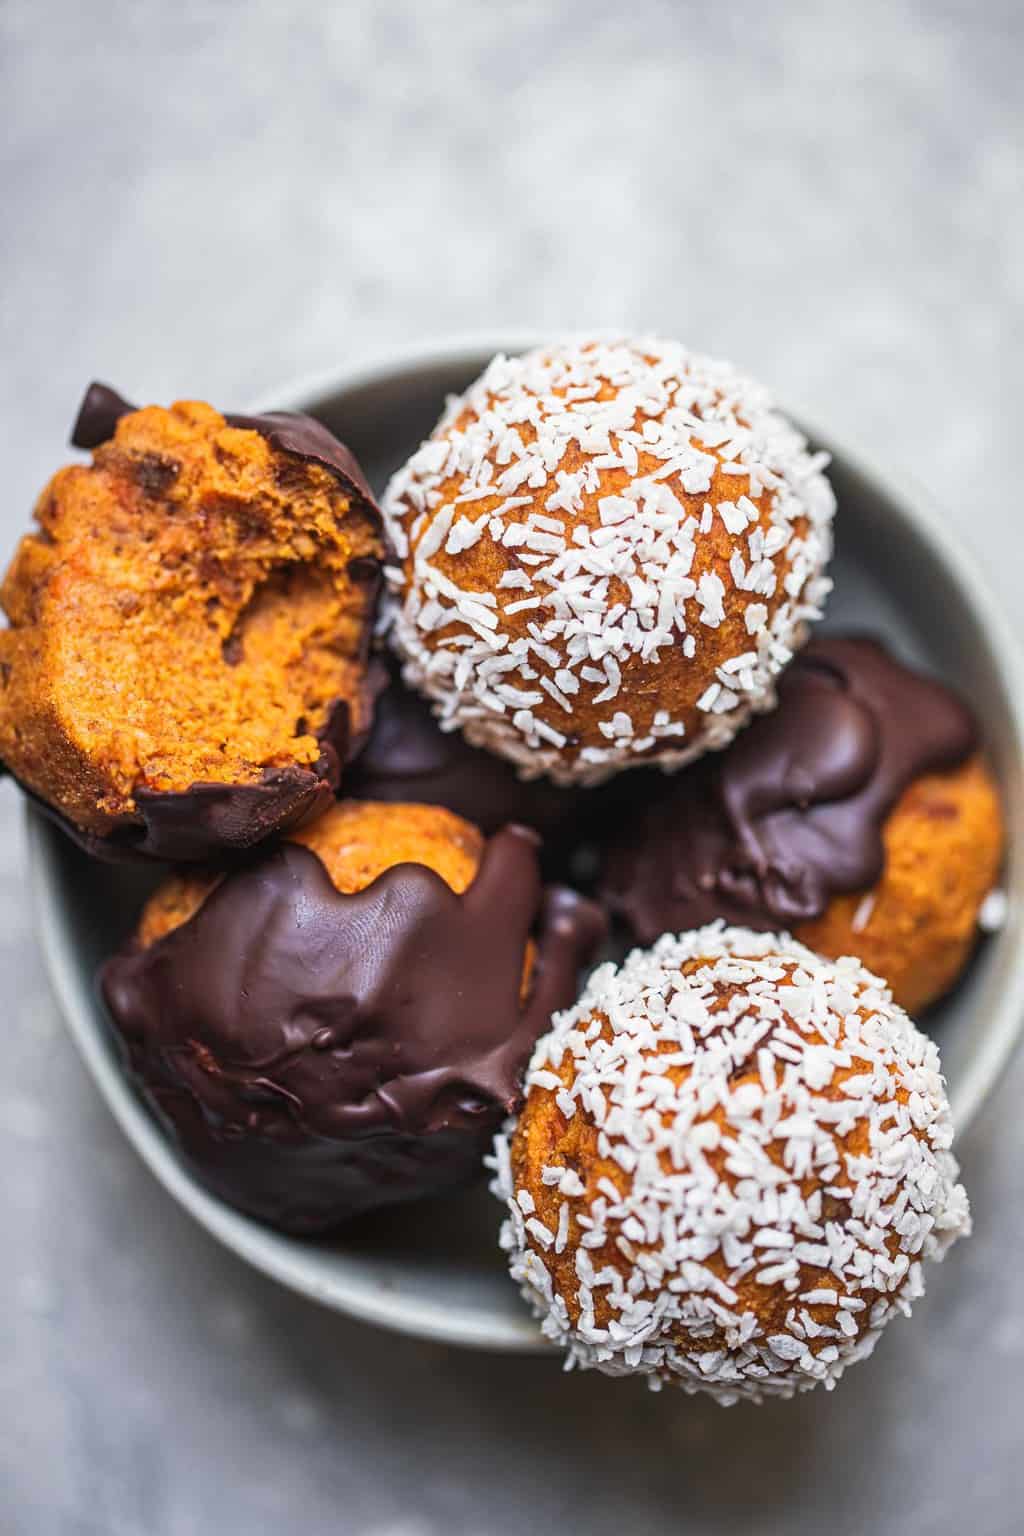
<path fill-rule="evenodd" d="M 395 665 L 367 745 L 345 774 L 345 796 L 444 805 L 487 834 L 520 822 L 547 839 L 580 823 L 588 791 L 559 790 L 545 779 L 524 782 L 510 763 L 470 746 L 459 731 L 442 731 Z"/>

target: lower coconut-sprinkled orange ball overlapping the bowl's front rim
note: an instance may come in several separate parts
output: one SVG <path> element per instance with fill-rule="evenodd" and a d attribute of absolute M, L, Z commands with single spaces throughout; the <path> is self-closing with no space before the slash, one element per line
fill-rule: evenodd
<path fill-rule="evenodd" d="M 852 958 L 711 925 L 600 966 L 496 1141 L 567 1362 L 720 1402 L 832 1387 L 970 1229 L 938 1051 Z"/>

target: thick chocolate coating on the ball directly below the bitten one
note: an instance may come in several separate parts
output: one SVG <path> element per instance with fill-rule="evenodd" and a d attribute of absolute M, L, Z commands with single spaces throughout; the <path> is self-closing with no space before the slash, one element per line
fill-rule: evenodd
<path fill-rule="evenodd" d="M 250 1215 L 321 1232 L 479 1170 L 603 932 L 571 891 L 542 899 L 527 828 L 488 842 L 462 895 L 411 863 L 342 895 L 316 854 L 284 843 L 100 980 L 200 1177 Z"/>

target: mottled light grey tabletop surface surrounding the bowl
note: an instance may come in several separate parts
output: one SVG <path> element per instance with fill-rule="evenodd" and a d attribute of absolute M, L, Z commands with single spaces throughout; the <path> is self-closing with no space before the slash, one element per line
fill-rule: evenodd
<path fill-rule="evenodd" d="M 1012 0 L 0 0 L 0 553 L 94 373 L 241 402 L 447 330 L 631 324 L 917 470 L 1019 624 L 1022 43 Z M 5 1536 L 1021 1530 L 1024 1060 L 913 1322 L 832 1398 L 723 1413 L 247 1272 L 61 1031 L 9 788 L 0 902 Z"/>

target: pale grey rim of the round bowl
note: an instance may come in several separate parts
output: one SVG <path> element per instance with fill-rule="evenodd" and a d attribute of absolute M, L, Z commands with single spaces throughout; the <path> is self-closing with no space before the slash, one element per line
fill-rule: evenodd
<path fill-rule="evenodd" d="M 451 367 L 462 361 L 467 364 L 467 370 L 479 369 L 482 361 L 499 352 L 524 352 L 536 346 L 537 341 L 536 332 L 502 330 L 499 335 L 470 332 L 413 346 L 396 346 L 356 359 L 345 367 L 327 369 L 295 379 L 287 387 L 259 398 L 250 409 L 315 410 L 325 398 L 336 398 L 342 392 L 382 382 L 396 373 Z M 973 559 L 947 531 L 946 521 L 930 493 L 903 470 L 890 465 L 886 465 L 884 470 L 878 468 L 874 456 L 864 453 L 857 444 L 849 445 L 849 438 L 844 438 L 840 447 L 827 433 L 817 430 L 806 412 L 795 410 L 792 416 L 817 445 L 824 447 L 854 468 L 866 484 L 883 490 L 886 498 L 897 505 L 898 515 L 910 533 L 929 548 L 941 565 L 953 573 L 972 619 L 987 637 L 993 668 L 1006 690 L 1009 725 L 1016 753 L 1018 757 L 1024 757 L 1024 660 L 1009 621 L 976 570 Z M 442 1299 L 424 1301 L 407 1296 L 388 1290 L 385 1286 L 367 1283 L 359 1275 L 352 1278 L 332 1273 L 330 1279 L 324 1281 L 304 1260 L 306 1250 L 301 1244 L 282 1240 L 278 1233 L 232 1210 L 192 1178 L 137 1098 L 109 1044 L 97 1029 L 95 1006 L 75 974 L 72 940 L 61 917 L 60 892 L 52 879 L 52 862 L 48 856 L 46 823 L 31 806 L 26 809 L 26 826 L 29 879 L 40 948 L 60 1011 L 109 1111 L 167 1193 L 195 1217 L 200 1226 L 246 1263 L 299 1295 L 336 1312 L 398 1333 L 468 1349 L 513 1353 L 547 1350 L 548 1346 L 540 1338 L 533 1319 L 525 1315 L 525 1309 L 519 1319 L 494 1316 L 487 1321 L 484 1318 L 453 1316 Z M 1012 942 L 1015 935 L 1018 948 L 1024 952 L 1024 903 L 1012 903 L 1007 926 L 1012 932 L 1006 935 L 1004 942 Z M 999 1081 L 1022 1028 L 1024 965 L 1018 965 L 998 1014 L 989 1023 L 983 1049 L 952 1092 L 958 1137 L 963 1137 L 983 1101 Z"/>

